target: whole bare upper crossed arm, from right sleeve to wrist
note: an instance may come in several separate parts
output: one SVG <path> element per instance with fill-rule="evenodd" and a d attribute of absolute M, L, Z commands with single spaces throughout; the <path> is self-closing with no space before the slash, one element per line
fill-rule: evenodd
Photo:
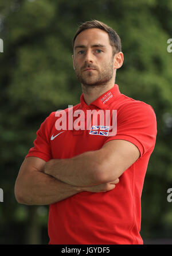
<path fill-rule="evenodd" d="M 138 147 L 126 140 L 111 140 L 100 150 L 69 159 L 52 159 L 44 173 L 73 186 L 95 186 L 115 181 L 140 156 Z"/>

